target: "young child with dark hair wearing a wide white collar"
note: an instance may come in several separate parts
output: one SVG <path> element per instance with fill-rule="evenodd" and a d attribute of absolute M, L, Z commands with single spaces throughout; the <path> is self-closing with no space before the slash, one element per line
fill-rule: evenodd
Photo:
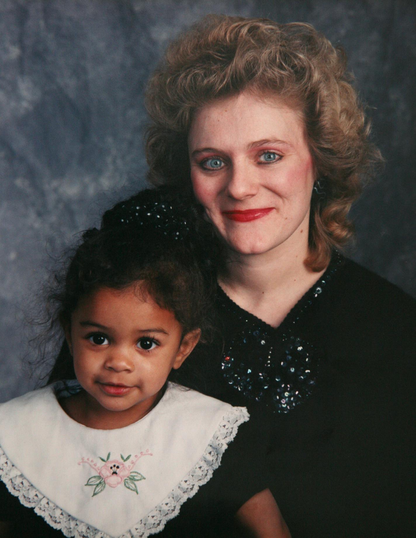
<path fill-rule="evenodd" d="M 143 201 L 140 225 L 84 232 L 50 296 L 55 383 L 0 405 L 0 536 L 286 538 L 246 409 L 178 384 L 209 279 Z"/>

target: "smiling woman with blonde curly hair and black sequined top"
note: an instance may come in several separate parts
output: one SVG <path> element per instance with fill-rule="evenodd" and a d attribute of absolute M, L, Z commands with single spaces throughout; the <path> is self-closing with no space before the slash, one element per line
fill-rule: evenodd
<path fill-rule="evenodd" d="M 194 194 L 224 248 L 200 390 L 270 411 L 294 537 L 412 535 L 416 307 L 339 253 L 381 160 L 343 52 L 307 24 L 210 16 L 168 47 L 147 108 L 150 181 Z"/>

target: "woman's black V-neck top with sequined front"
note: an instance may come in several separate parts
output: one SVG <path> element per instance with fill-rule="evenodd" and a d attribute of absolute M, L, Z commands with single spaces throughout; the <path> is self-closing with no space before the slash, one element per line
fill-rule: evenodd
<path fill-rule="evenodd" d="M 416 301 L 335 253 L 273 329 L 218 287 L 224 339 L 200 390 L 270 433 L 293 538 L 412 536 Z"/>

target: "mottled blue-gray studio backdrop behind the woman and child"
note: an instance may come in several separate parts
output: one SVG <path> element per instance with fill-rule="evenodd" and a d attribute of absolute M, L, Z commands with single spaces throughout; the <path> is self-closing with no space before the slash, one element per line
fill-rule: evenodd
<path fill-rule="evenodd" d="M 1 0 L 0 401 L 34 384 L 20 319 L 48 260 L 144 186 L 144 84 L 210 12 L 304 20 L 344 45 L 387 161 L 353 210 L 351 255 L 416 295 L 413 2 Z"/>

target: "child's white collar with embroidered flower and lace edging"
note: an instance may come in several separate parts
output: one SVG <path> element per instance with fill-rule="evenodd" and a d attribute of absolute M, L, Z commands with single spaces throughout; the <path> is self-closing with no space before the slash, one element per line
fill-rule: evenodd
<path fill-rule="evenodd" d="M 46 387 L 0 405 L 0 476 L 65 536 L 144 538 L 208 482 L 248 417 L 170 384 L 143 419 L 96 430 L 70 419 Z"/>

